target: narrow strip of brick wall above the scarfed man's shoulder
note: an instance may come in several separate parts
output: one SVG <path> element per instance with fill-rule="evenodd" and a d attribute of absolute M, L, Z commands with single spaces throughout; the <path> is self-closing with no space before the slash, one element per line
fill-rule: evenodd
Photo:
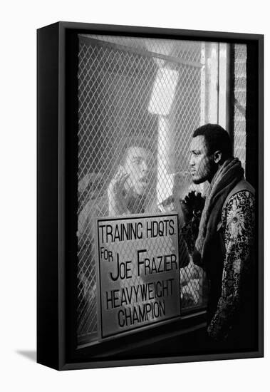
<path fill-rule="evenodd" d="M 234 45 L 234 156 L 246 165 L 246 45 Z"/>

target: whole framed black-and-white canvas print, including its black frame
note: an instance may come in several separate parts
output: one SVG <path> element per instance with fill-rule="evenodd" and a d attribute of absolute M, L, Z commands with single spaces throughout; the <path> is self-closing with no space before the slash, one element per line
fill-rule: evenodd
<path fill-rule="evenodd" d="M 38 363 L 263 356 L 263 36 L 38 30 Z"/>

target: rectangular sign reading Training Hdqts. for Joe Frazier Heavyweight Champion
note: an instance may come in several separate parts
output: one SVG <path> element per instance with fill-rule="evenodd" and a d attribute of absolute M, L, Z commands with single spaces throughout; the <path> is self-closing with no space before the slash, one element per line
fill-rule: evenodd
<path fill-rule="evenodd" d="M 98 220 L 102 337 L 180 315 L 177 215 Z"/>

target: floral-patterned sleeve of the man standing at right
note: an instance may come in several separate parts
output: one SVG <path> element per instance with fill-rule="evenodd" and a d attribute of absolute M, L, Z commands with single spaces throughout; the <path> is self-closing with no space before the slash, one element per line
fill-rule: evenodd
<path fill-rule="evenodd" d="M 226 255 L 222 275 L 222 295 L 208 327 L 213 339 L 227 339 L 239 310 L 241 284 L 251 269 L 254 242 L 254 195 L 242 190 L 230 197 L 222 212 Z"/>

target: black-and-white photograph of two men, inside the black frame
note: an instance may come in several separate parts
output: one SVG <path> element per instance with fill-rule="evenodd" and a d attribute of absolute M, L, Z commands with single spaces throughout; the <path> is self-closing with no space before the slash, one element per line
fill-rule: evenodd
<path fill-rule="evenodd" d="M 179 320 L 179 354 L 252 350 L 247 45 L 78 41 L 78 344 Z"/>

